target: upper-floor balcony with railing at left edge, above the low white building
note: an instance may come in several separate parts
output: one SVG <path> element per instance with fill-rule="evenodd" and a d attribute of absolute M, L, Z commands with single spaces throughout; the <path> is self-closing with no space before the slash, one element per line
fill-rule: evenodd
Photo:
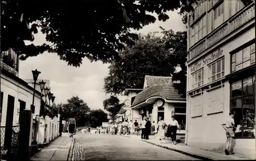
<path fill-rule="evenodd" d="M 18 54 L 13 51 L 13 49 L 9 49 L 7 51 L 3 51 L 1 53 L 1 69 L 4 69 L 14 75 L 18 74 Z"/>

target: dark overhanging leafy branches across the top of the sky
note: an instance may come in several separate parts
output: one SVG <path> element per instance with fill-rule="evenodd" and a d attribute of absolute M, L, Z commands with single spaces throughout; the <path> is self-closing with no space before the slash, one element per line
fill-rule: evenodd
<path fill-rule="evenodd" d="M 194 1 L 3 1 L 1 50 L 11 47 L 21 60 L 48 50 L 75 67 L 84 57 L 91 61 L 119 60 L 118 51 L 138 38 L 130 29 L 139 30 L 156 21 L 149 12 L 156 12 L 158 19 L 165 21 L 169 18 L 166 11 L 190 10 L 187 2 Z M 27 23 L 32 23 L 30 30 Z M 53 45 L 25 45 L 24 40 L 33 41 L 27 35 L 36 34 L 38 28 Z"/>

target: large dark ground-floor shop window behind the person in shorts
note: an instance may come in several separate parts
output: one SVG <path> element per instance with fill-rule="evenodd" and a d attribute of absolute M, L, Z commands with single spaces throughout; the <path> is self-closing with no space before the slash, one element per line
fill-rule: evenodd
<path fill-rule="evenodd" d="M 255 75 L 231 83 L 231 112 L 234 114 L 235 137 L 255 138 Z"/>

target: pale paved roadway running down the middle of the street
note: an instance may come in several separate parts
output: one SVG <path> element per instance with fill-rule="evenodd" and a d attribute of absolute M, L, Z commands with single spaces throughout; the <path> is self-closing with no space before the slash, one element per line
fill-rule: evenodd
<path fill-rule="evenodd" d="M 74 136 L 73 160 L 191 160 L 175 151 L 147 144 L 137 138 L 81 134 Z"/>

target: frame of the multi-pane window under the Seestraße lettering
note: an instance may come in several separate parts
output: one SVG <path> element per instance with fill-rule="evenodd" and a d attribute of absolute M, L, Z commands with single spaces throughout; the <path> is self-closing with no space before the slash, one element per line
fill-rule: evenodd
<path fill-rule="evenodd" d="M 220 66 L 221 66 L 221 71 L 217 73 L 217 69 L 218 69 L 217 63 L 218 63 L 218 62 L 221 62 L 221 64 L 220 64 Z M 223 66 L 223 63 L 224 63 L 224 66 Z M 212 75 L 212 70 L 211 70 L 211 69 L 212 69 L 212 65 L 214 65 L 214 64 L 215 64 L 215 74 Z M 209 82 L 213 82 L 213 81 L 216 81 L 216 80 L 218 80 L 218 79 L 224 77 L 224 76 L 225 76 L 225 57 L 221 57 L 221 58 L 218 59 L 217 61 L 215 61 L 215 62 L 213 62 L 213 63 L 210 63 L 209 65 L 207 65 L 207 67 L 208 67 L 208 81 L 209 81 Z M 218 74 L 220 74 L 220 77 L 219 77 L 219 78 L 217 78 L 217 75 L 218 75 Z M 213 77 L 213 76 L 215 76 L 215 79 L 214 79 L 214 80 L 212 80 L 212 77 Z"/>

